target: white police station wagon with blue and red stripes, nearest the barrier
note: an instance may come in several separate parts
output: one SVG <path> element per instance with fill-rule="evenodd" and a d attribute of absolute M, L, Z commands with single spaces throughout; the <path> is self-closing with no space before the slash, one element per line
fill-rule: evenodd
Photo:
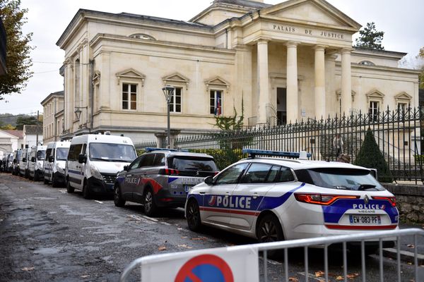
<path fill-rule="evenodd" d="M 190 190 L 185 214 L 192 231 L 204 224 L 272 242 L 399 228 L 395 197 L 369 168 L 310 161 L 306 152 L 243 152 L 250 157 Z"/>

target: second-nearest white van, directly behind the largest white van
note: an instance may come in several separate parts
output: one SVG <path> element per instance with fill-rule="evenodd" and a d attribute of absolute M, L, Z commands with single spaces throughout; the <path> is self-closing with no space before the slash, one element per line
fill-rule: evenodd
<path fill-rule="evenodd" d="M 44 162 L 44 183 L 52 183 L 53 187 L 66 184 L 65 165 L 71 142 L 49 142 Z"/>

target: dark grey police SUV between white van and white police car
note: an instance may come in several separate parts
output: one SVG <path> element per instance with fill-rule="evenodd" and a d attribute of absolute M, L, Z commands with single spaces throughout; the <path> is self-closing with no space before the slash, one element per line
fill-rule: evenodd
<path fill-rule="evenodd" d="M 208 154 L 147 149 L 117 176 L 114 204 L 126 201 L 144 204 L 144 212 L 153 216 L 160 207 L 184 207 L 187 192 L 218 168 Z"/>

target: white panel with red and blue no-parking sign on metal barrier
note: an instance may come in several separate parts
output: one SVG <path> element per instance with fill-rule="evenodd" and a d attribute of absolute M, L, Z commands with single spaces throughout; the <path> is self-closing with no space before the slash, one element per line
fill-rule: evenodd
<path fill-rule="evenodd" d="M 144 257 L 141 281 L 256 282 L 256 248 L 220 247 Z"/>

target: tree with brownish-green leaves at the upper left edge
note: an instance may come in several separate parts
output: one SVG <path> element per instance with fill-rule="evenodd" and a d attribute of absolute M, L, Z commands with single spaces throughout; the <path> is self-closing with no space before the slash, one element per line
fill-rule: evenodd
<path fill-rule="evenodd" d="M 0 16 L 6 30 L 6 69 L 0 76 L 0 100 L 5 94 L 20 93 L 33 75 L 30 67 L 29 45 L 33 33 L 23 35 L 22 26 L 26 23 L 27 9 L 20 8 L 20 0 L 0 0 Z"/>

